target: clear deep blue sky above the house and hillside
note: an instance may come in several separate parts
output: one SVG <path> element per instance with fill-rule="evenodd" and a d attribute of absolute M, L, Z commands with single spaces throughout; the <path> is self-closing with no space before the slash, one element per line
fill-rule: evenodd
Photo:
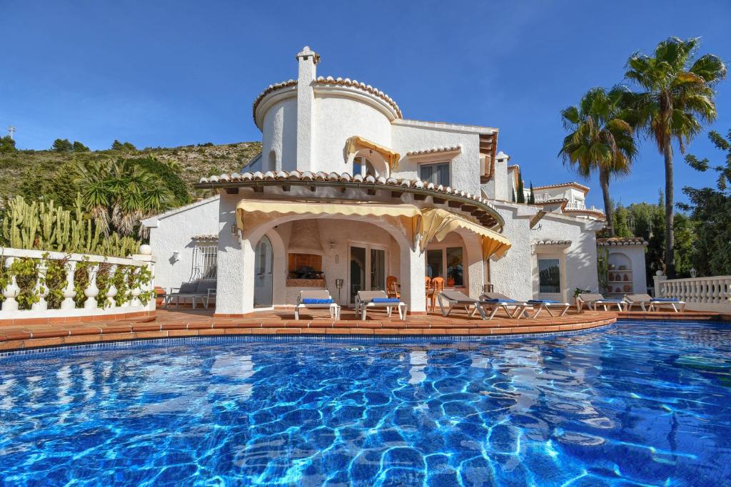
<path fill-rule="evenodd" d="M 556 157 L 559 112 L 596 85 L 621 82 L 635 50 L 702 37 L 731 63 L 731 2 L 718 1 L 15 1 L 0 0 L 0 127 L 18 147 L 56 137 L 94 149 L 260 140 L 251 102 L 297 75 L 362 80 L 405 118 L 494 126 L 499 149 L 535 185 L 577 180 Z M 718 87 L 731 129 L 731 80 Z M 721 160 L 703 134 L 690 152 Z M 629 204 L 656 201 L 662 157 L 645 142 L 632 176 L 612 185 Z M 676 187 L 710 185 L 680 156 Z M 601 206 L 596 180 L 589 202 Z M 679 191 L 676 191 L 679 193 Z M 682 197 L 678 195 L 678 197 Z"/>

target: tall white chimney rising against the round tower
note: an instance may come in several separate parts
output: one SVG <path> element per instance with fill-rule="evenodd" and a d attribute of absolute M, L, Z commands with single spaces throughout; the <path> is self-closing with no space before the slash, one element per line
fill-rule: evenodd
<path fill-rule="evenodd" d="M 314 126 L 315 95 L 312 82 L 317 77 L 319 54 L 308 46 L 297 55 L 297 169 L 312 170 L 312 130 Z"/>

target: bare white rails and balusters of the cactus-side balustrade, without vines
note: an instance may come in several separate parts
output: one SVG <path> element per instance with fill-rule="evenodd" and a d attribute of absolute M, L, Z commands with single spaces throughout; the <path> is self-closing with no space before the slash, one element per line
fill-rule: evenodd
<path fill-rule="evenodd" d="M 31 304 L 30 310 L 19 309 L 18 296 L 20 295 L 21 289 L 18 286 L 18 280 L 15 275 L 8 274 L 12 263 L 19 258 L 37 259 L 38 261 L 35 282 L 32 288 L 32 292 L 37 296 L 38 301 Z M 64 263 L 64 276 L 62 277 L 61 288 L 53 291 L 56 295 L 58 295 L 58 291 L 61 291 L 61 295 L 64 298 L 60 304 L 56 302 L 55 306 L 58 309 L 49 309 L 48 303 L 48 295 L 51 291 L 50 283 L 48 282 L 51 261 Z M 83 289 L 83 294 L 86 296 L 86 299 L 83 304 L 77 306 L 75 275 L 80 262 L 88 262 L 89 264 L 86 268 L 88 284 Z M 106 269 L 107 266 L 102 266 L 102 264 L 110 265 Z M 154 299 L 151 299 L 147 303 L 140 301 L 141 294 L 154 288 L 152 282 L 136 285 L 127 290 L 127 299 L 120 306 L 117 305 L 116 299 L 121 291 L 116 288 L 113 282 L 115 272 L 118 269 L 121 269 L 128 282 L 129 272 L 132 272 L 133 269 L 135 272 L 142 272 L 143 269 L 154 269 L 154 264 L 149 253 L 136 255 L 132 258 L 118 258 L 0 247 L 0 266 L 4 266 L 5 274 L 8 276 L 5 287 L 0 289 L 0 294 L 4 298 L 0 300 L 0 320 L 112 315 L 121 312 L 151 311 L 155 309 Z M 99 296 L 100 291 L 99 285 L 97 284 L 100 267 L 105 268 L 103 272 L 106 273 L 107 282 L 109 282 L 109 286 L 102 296 Z"/>

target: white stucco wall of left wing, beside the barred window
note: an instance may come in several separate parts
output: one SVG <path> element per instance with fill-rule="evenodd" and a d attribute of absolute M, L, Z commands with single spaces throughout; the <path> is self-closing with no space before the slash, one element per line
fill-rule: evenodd
<path fill-rule="evenodd" d="M 219 234 L 219 197 L 205 199 L 185 207 L 148 218 L 150 246 L 155 258 L 155 285 L 169 289 L 179 287 L 194 277 L 194 247 L 192 237 Z M 215 245 L 216 242 L 212 242 Z M 174 261 L 178 252 L 179 261 Z"/>

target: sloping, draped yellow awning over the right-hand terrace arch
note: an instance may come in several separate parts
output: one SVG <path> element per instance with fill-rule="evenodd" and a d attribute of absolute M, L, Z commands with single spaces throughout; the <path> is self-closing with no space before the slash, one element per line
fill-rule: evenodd
<path fill-rule="evenodd" d="M 482 258 L 487 259 L 493 255 L 502 257 L 510 249 L 510 240 L 498 232 L 486 229 L 482 225 L 473 223 L 447 210 L 428 208 L 422 210 L 422 225 L 421 229 L 419 229 L 421 234 L 421 250 L 424 250 L 432 239 L 436 239 L 437 242 L 442 242 L 444 237 L 447 237 L 447 234 L 458 228 L 466 229 L 474 234 L 480 235 L 482 239 Z"/>

